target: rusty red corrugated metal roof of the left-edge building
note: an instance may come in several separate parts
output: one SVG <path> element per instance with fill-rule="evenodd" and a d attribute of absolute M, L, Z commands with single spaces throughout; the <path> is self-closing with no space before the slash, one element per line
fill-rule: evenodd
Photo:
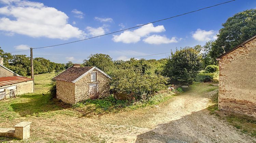
<path fill-rule="evenodd" d="M 0 77 L 0 86 L 24 82 L 24 81 L 30 81 L 30 80 L 33 80 L 33 79 L 27 78 L 27 77 L 18 77 L 18 76 Z"/>

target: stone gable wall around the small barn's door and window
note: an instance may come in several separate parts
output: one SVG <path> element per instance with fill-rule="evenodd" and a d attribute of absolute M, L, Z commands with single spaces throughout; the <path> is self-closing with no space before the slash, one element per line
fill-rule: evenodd
<path fill-rule="evenodd" d="M 99 98 L 110 95 L 110 80 L 104 74 L 94 69 L 93 72 L 97 72 L 97 81 L 91 82 L 90 73 L 75 82 L 75 102 L 86 100 L 88 96 L 89 84 L 98 84 L 98 96 Z"/>

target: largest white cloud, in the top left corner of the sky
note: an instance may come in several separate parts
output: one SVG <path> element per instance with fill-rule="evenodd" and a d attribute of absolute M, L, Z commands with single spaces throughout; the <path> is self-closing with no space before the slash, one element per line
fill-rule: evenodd
<path fill-rule="evenodd" d="M 5 0 L 5 3 L 6 2 Z M 85 33 L 68 24 L 68 16 L 54 7 L 30 1 L 14 1 L 0 7 L 0 30 L 31 37 L 84 38 Z"/>

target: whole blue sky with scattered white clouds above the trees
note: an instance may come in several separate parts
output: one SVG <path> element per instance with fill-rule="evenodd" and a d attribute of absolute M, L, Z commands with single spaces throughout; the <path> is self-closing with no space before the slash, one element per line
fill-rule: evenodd
<path fill-rule="evenodd" d="M 226 0 L 0 0 L 0 47 L 6 52 L 43 47 L 133 27 L 201 9 Z M 34 49 L 34 57 L 57 63 L 81 63 L 90 54 L 113 60 L 204 45 L 215 39 L 228 17 L 256 7 L 255 0 L 236 0 L 207 10 L 141 28 L 52 48 Z M 13 54 L 26 54 L 29 51 Z M 161 59 L 168 54 L 144 57 Z"/>

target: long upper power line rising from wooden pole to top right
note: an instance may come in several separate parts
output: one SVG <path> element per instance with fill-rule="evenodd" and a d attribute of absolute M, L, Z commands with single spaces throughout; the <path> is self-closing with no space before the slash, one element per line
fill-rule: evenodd
<path fill-rule="evenodd" d="M 131 27 L 131 28 L 126 28 L 126 29 L 123 29 L 123 30 L 119 30 L 119 31 L 115 31 L 115 32 L 111 32 L 111 33 L 107 33 L 107 34 L 103 34 L 103 35 L 99 35 L 99 36 L 95 36 L 95 37 L 90 37 L 90 38 L 86 38 L 86 39 L 82 39 L 82 40 L 78 40 L 78 41 L 73 41 L 73 42 L 68 42 L 68 43 L 63 43 L 63 44 L 57 44 L 57 45 L 52 45 L 52 46 L 37 47 L 37 48 L 33 48 L 33 49 L 41 49 L 41 48 L 55 47 L 55 46 L 60 46 L 60 45 L 66 45 L 66 44 L 71 44 L 71 43 L 75 43 L 75 42 L 80 42 L 80 41 L 84 41 L 84 40 L 88 40 L 88 39 L 92 39 L 92 38 L 97 38 L 97 37 L 101 37 L 101 36 L 105 36 L 105 35 L 109 35 L 109 34 L 121 32 L 121 31 L 129 30 L 129 29 L 141 27 L 141 26 L 144 26 L 144 25 L 148 25 L 148 24 L 150 24 L 150 23 L 156 23 L 156 22 L 159 22 L 159 21 L 171 19 L 171 18 L 174 18 L 174 17 L 179 17 L 179 16 L 186 15 L 186 14 L 189 14 L 189 13 L 194 13 L 194 12 L 201 11 L 201 10 L 204 10 L 204 9 L 209 9 L 209 8 L 211 8 L 211 7 L 215 7 L 215 6 L 218 6 L 218 5 L 221 5 L 221 4 L 225 4 L 225 3 L 229 3 L 229 2 L 232 2 L 232 1 L 235 1 L 235 0 L 230 0 L 230 1 L 227 1 L 227 2 L 223 2 L 223 3 L 215 4 L 215 5 L 212 5 L 212 6 L 204 7 L 204 8 L 202 8 L 202 9 L 198 9 L 198 10 L 195 10 L 195 11 L 191 11 L 191 12 L 187 12 L 187 13 L 184 13 L 184 14 L 180 14 L 180 15 L 168 17 L 168 18 L 165 18 L 165 19 L 160 19 L 160 20 L 153 21 L 153 22 L 149 22 L 149 23 L 142 24 L 142 25 L 139 25 L 139 26 L 135 26 L 135 27 Z M 17 52 L 20 52 L 20 51 L 17 51 Z"/>

